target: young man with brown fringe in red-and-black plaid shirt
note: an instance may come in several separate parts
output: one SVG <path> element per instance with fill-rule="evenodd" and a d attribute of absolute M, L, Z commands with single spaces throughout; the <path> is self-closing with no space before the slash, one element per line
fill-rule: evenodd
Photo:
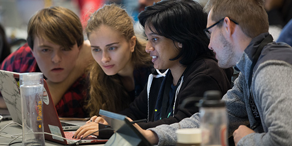
<path fill-rule="evenodd" d="M 56 6 L 42 9 L 30 19 L 27 43 L 9 55 L 0 69 L 42 72 L 59 116 L 88 117 L 84 73 L 91 59 L 78 16 Z"/>

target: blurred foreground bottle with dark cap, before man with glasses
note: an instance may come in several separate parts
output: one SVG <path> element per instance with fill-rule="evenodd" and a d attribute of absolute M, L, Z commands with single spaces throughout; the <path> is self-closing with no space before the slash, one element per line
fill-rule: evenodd
<path fill-rule="evenodd" d="M 206 91 L 200 100 L 201 146 L 228 146 L 225 103 L 220 91 Z"/>

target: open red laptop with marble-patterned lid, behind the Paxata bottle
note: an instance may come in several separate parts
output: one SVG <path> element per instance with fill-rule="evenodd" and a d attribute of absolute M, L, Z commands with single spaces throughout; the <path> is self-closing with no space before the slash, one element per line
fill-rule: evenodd
<path fill-rule="evenodd" d="M 4 98 L 7 109 L 9 110 L 12 120 L 19 124 L 22 124 L 21 117 L 21 96 L 19 88 L 19 73 L 8 72 L 0 70 L 0 91 Z M 70 125 L 71 123 L 67 123 Z M 71 124 L 72 125 L 72 124 Z M 80 126 L 69 126 L 62 127 L 59 120 L 53 99 L 51 97 L 48 85 L 44 80 L 44 95 L 43 95 L 43 127 L 44 132 L 51 133 L 66 139 L 68 141 L 49 134 L 44 134 L 46 140 L 54 141 L 59 144 L 69 145 L 78 141 L 78 144 L 94 144 L 94 143 L 106 143 L 108 140 L 98 139 L 95 136 L 89 136 L 88 138 L 80 141 L 80 139 L 73 139 L 74 131 L 64 131 L 73 130 L 75 127 Z"/>

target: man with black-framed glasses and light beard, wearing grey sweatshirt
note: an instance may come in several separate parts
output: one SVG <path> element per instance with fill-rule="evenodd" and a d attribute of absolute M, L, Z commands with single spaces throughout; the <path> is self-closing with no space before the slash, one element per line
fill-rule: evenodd
<path fill-rule="evenodd" d="M 268 33 L 263 0 L 209 0 L 206 35 L 222 68 L 241 73 L 222 98 L 228 134 L 237 146 L 292 144 L 292 48 Z M 249 125 L 249 127 L 247 126 Z M 200 113 L 180 123 L 142 130 L 149 142 L 176 145 L 175 130 L 199 128 Z"/>

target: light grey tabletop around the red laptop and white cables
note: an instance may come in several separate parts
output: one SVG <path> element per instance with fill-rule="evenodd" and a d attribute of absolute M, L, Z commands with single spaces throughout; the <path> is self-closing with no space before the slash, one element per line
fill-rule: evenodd
<path fill-rule="evenodd" d="M 13 122 L 12 120 L 9 121 L 1 121 L 0 122 L 0 130 L 2 130 L 2 128 L 4 128 L 7 124 Z M 70 123 L 74 123 L 77 125 L 84 125 L 85 122 L 84 121 L 70 121 Z M 14 138 L 11 137 L 11 135 L 17 135 L 22 133 L 22 128 L 16 124 L 11 124 L 8 127 L 4 128 L 1 132 L 0 132 L 0 144 L 9 144 Z M 22 136 L 21 136 L 22 137 Z M 16 140 L 14 140 L 13 142 L 19 142 L 22 141 L 22 138 L 18 138 Z M 52 141 L 47 141 L 45 140 L 46 146 L 63 146 L 61 144 L 52 142 Z M 12 146 L 21 146 L 21 143 L 16 143 Z M 97 144 L 97 145 L 90 145 L 90 146 L 104 146 L 104 144 Z"/>

